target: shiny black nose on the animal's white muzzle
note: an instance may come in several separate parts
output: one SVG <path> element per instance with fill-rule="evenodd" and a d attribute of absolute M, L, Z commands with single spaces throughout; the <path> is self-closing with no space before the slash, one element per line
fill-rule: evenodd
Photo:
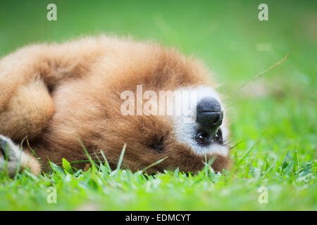
<path fill-rule="evenodd" d="M 220 103 L 215 98 L 203 98 L 197 104 L 196 121 L 204 129 L 216 130 L 223 122 Z"/>

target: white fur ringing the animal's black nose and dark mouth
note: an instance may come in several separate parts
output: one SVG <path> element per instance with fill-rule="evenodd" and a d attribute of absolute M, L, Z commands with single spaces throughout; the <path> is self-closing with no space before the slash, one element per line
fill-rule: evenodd
<path fill-rule="evenodd" d="M 223 110 L 223 123 L 220 126 L 221 131 L 223 132 L 223 139 L 228 138 L 228 128 L 226 127 L 226 117 L 225 117 L 225 109 L 223 106 L 223 103 L 220 99 L 219 94 L 212 89 L 209 86 L 198 86 L 194 88 L 182 88 L 180 90 L 187 90 L 187 91 L 195 91 L 196 94 L 196 101 L 194 104 L 191 105 L 191 110 L 193 110 L 193 114 L 196 115 L 196 108 L 197 103 L 201 101 L 203 98 L 211 97 L 216 98 L 217 101 L 219 101 L 221 105 L 221 110 Z M 192 100 L 191 100 L 192 101 Z M 228 155 L 228 147 L 227 146 L 220 146 L 217 143 L 211 143 L 210 146 L 202 147 L 199 146 L 199 144 L 195 141 L 194 137 L 197 135 L 197 127 L 198 124 L 195 120 L 192 122 L 184 122 L 181 116 L 174 116 L 173 122 L 174 122 L 174 129 L 173 134 L 175 135 L 175 138 L 180 143 L 185 144 L 186 146 L 189 146 L 192 148 L 194 153 L 198 155 L 205 155 L 206 153 L 209 154 L 218 154 L 227 156 Z"/>

